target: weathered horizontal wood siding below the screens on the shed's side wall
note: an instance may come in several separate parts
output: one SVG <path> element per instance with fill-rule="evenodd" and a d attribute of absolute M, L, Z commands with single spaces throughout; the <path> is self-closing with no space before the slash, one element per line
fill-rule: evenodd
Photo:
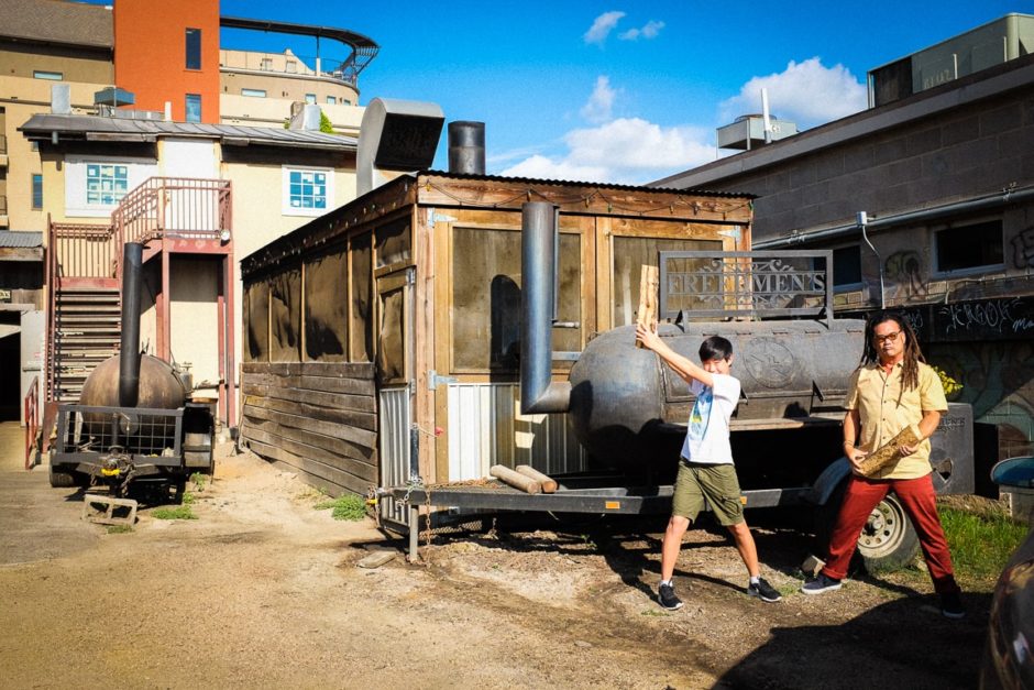
<path fill-rule="evenodd" d="M 244 362 L 241 438 L 332 495 L 377 484 L 374 365 Z"/>

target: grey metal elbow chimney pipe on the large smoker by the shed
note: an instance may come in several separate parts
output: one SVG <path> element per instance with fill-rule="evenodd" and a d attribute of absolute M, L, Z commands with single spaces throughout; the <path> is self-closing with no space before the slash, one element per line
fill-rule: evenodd
<path fill-rule="evenodd" d="M 520 412 L 568 412 L 571 383 L 551 382 L 556 209 L 528 201 L 520 209 Z"/>

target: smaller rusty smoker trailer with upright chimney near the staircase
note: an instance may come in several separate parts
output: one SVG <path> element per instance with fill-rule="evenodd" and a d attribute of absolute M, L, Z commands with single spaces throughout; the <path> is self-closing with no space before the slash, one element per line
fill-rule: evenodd
<path fill-rule="evenodd" d="M 144 482 L 179 501 L 191 473 L 212 471 L 212 403 L 190 398 L 186 371 L 140 351 L 142 260 L 143 245 L 125 243 L 119 354 L 90 373 L 78 404 L 58 405 L 52 486 L 106 484 L 125 496 Z"/>

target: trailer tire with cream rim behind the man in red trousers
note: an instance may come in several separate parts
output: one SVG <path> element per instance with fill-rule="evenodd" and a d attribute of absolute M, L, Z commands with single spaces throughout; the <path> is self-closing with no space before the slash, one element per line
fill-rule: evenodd
<path fill-rule="evenodd" d="M 814 552 L 823 560 L 829 558 L 829 536 L 846 490 L 847 482 L 844 481 L 829 496 L 829 501 L 816 511 Z M 912 521 L 905 514 L 898 496 L 889 493 L 872 508 L 861 534 L 858 535 L 858 548 L 851 559 L 851 569 L 860 566 L 870 574 L 900 570 L 915 559 L 919 549 L 920 538 Z"/>

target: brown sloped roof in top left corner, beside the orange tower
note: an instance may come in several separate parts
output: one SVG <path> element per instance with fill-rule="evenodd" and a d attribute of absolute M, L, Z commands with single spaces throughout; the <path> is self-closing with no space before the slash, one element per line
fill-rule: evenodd
<path fill-rule="evenodd" d="M 110 48 L 111 8 L 66 0 L 0 0 L 0 36 Z"/>

